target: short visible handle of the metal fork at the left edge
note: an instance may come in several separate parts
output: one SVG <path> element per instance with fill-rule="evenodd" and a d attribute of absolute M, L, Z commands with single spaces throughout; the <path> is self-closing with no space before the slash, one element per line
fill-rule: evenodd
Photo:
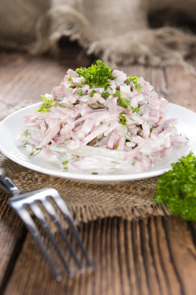
<path fill-rule="evenodd" d="M 0 190 L 9 196 L 16 196 L 21 193 L 10 177 L 6 177 L 5 169 L 0 169 Z"/>

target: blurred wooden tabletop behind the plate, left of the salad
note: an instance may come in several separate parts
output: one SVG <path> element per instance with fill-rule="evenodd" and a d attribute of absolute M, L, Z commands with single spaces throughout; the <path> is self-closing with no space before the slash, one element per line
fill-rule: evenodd
<path fill-rule="evenodd" d="M 67 70 L 88 66 L 89 58 L 75 59 L 75 51 L 67 59 L 30 57 L 20 53 L 0 53 L 0 115 L 24 100 L 40 101 L 40 94 L 50 93 L 64 79 Z M 66 57 L 66 52 L 65 52 Z"/>

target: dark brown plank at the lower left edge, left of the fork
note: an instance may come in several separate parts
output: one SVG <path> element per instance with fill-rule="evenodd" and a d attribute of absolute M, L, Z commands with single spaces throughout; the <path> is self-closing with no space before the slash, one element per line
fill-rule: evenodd
<path fill-rule="evenodd" d="M 0 294 L 11 276 L 15 261 L 25 240 L 26 229 L 0 193 Z"/>

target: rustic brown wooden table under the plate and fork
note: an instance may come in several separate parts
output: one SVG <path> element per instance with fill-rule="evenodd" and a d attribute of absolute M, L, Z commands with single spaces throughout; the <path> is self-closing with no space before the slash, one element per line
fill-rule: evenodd
<path fill-rule="evenodd" d="M 75 60 L 72 45 L 61 64 L 19 53 L 0 53 L 0 114 L 16 103 L 40 100 L 62 81 L 69 67 L 88 66 Z M 180 66 L 123 67 L 143 76 L 160 95 L 196 111 L 196 78 Z M 55 281 L 23 223 L 0 200 L 0 294 L 4 295 L 195 295 L 196 223 L 181 218 L 149 217 L 97 220 L 79 227 L 96 271 Z M 46 240 L 47 242 L 47 240 Z"/>

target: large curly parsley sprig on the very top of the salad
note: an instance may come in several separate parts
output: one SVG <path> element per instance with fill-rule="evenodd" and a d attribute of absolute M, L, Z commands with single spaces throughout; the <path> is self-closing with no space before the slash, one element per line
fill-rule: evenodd
<path fill-rule="evenodd" d="M 108 67 L 103 61 L 97 60 L 96 64 L 92 64 L 90 67 L 81 67 L 75 70 L 80 77 L 84 77 L 86 84 L 91 88 L 93 87 L 106 87 L 109 85 L 109 81 L 113 79 L 111 67 Z"/>

